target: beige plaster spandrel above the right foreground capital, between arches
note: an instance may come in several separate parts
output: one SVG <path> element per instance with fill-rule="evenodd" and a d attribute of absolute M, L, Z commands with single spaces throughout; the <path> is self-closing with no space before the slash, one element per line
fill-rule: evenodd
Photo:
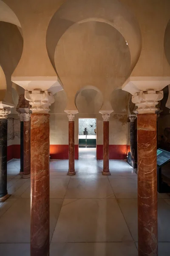
<path fill-rule="evenodd" d="M 170 76 L 164 53 L 164 34 L 170 20 L 169 0 L 121 0 L 136 17 L 142 33 L 142 51 L 131 76 Z"/>

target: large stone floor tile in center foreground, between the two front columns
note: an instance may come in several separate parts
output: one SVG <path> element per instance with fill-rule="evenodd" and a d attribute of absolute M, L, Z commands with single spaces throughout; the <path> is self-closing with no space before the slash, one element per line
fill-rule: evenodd
<path fill-rule="evenodd" d="M 52 242 L 133 241 L 116 199 L 65 199 Z"/>

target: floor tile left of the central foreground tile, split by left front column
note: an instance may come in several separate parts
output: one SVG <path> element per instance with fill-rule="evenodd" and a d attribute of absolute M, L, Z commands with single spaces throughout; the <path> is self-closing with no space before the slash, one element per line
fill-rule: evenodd
<path fill-rule="evenodd" d="M 50 200 L 50 239 L 62 206 L 62 199 Z M 0 218 L 0 243 L 30 242 L 30 199 L 18 199 Z"/>

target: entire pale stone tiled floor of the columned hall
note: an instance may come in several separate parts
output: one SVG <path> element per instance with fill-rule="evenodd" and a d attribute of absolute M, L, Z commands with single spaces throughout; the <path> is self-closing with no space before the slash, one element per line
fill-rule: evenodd
<path fill-rule="evenodd" d="M 102 176 L 95 149 L 82 148 L 77 175 L 68 160 L 50 162 L 50 256 L 137 256 L 137 175 L 124 161 L 110 161 Z M 0 256 L 30 255 L 30 180 L 8 163 L 8 192 L 0 203 Z M 170 197 L 159 194 L 159 256 L 170 255 Z"/>

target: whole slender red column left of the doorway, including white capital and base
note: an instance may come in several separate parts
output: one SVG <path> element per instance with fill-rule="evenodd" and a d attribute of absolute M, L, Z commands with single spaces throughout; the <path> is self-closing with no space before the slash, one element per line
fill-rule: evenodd
<path fill-rule="evenodd" d="M 68 175 L 75 175 L 74 119 L 77 111 L 65 112 L 68 113 Z"/>

